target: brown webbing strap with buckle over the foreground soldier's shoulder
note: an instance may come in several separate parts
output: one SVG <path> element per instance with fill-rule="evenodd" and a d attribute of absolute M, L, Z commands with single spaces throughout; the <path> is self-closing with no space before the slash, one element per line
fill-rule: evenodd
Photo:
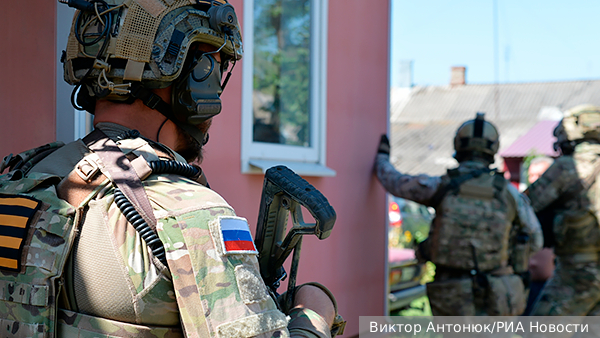
<path fill-rule="evenodd" d="M 100 157 L 103 164 L 100 171 L 109 177 L 150 228 L 156 231 L 156 218 L 142 181 L 117 144 L 100 129 L 94 129 L 83 138 L 83 142 Z"/>

